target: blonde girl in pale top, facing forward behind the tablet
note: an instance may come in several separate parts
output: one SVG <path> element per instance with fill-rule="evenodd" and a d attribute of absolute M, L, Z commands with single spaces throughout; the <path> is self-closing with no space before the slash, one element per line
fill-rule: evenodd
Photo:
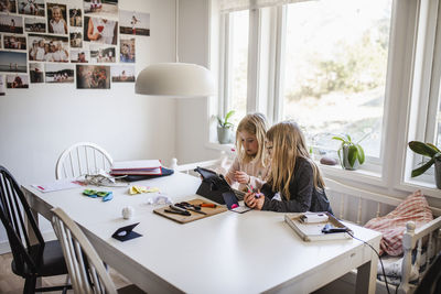
<path fill-rule="evenodd" d="M 239 189 L 247 186 L 260 188 L 269 168 L 265 152 L 267 120 L 262 113 L 245 116 L 236 131 L 237 156 L 225 175 L 228 184 L 239 183 Z"/>

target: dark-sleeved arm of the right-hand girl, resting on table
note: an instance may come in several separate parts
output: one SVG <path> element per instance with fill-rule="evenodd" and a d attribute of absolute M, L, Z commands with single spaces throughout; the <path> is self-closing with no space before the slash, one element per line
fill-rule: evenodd
<path fill-rule="evenodd" d="M 314 190 L 313 172 L 308 161 L 299 160 L 299 168 L 295 168 L 294 179 L 290 183 L 291 199 L 287 200 L 281 196 L 281 200 L 265 197 L 262 210 L 279 213 L 304 213 L 311 207 L 312 193 Z M 262 189 L 263 190 L 263 189 Z"/>

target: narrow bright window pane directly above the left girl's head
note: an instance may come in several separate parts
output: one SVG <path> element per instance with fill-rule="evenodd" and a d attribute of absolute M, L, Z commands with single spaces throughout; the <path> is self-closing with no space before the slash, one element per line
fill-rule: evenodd
<path fill-rule="evenodd" d="M 235 109 L 234 120 L 240 120 L 247 112 L 248 75 L 248 10 L 232 13 L 232 68 L 229 109 Z"/>

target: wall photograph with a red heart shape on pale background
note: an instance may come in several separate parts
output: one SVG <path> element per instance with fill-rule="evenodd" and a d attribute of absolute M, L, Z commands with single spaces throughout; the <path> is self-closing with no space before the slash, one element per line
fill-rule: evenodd
<path fill-rule="evenodd" d="M 84 41 L 116 45 L 118 22 L 108 19 L 84 18 Z"/>

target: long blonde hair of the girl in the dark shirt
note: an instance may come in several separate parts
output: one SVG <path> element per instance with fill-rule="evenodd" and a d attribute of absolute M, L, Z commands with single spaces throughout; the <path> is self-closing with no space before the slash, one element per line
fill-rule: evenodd
<path fill-rule="evenodd" d="M 298 157 L 306 160 L 312 167 L 314 188 L 324 188 L 319 166 L 311 160 L 306 141 L 299 126 L 292 121 L 282 121 L 272 126 L 267 132 L 267 140 L 272 142 L 271 171 L 269 184 L 272 190 L 279 190 L 291 198 L 289 184 L 295 177 L 294 167 Z"/>

